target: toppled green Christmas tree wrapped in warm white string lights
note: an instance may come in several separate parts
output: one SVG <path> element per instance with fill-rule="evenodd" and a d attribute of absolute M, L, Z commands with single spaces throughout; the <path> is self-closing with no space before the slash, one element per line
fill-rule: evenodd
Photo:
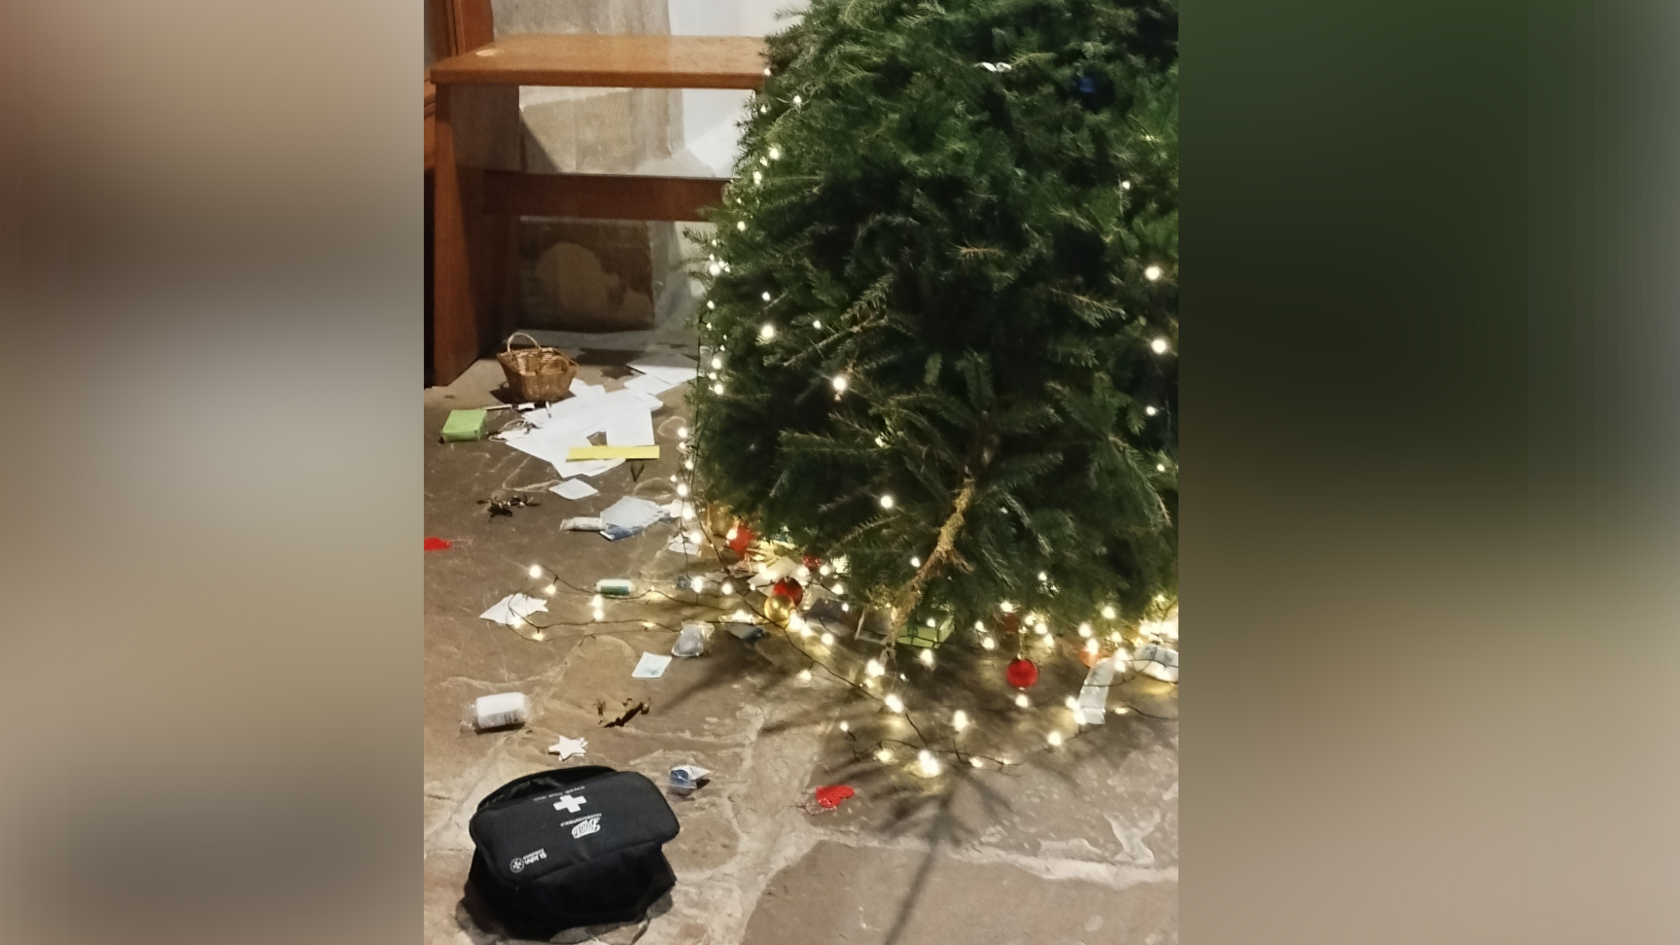
<path fill-rule="evenodd" d="M 1176 29 L 813 0 L 769 40 L 701 261 L 697 476 L 843 558 L 889 644 L 1176 607 Z"/>

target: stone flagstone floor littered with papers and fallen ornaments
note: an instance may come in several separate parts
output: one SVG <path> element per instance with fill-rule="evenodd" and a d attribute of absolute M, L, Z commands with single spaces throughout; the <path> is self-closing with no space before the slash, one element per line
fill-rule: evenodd
<path fill-rule="evenodd" d="M 627 351 L 585 350 L 580 377 L 617 387 Z M 961 743 L 1018 762 L 1008 770 L 953 765 L 934 779 L 911 772 L 902 747 L 894 763 L 869 750 L 909 738 L 906 723 L 848 686 L 815 674 L 786 639 L 744 644 L 716 634 L 704 657 L 679 659 L 664 678 L 630 679 L 643 651 L 670 652 L 684 614 L 679 600 L 610 602 L 606 622 L 588 624 L 588 594 L 561 589 L 531 641 L 477 615 L 516 590 L 531 590 L 541 563 L 564 582 L 632 577 L 680 599 L 672 578 L 685 567 L 665 552 L 674 525 L 606 541 L 561 531 L 573 515 L 595 515 L 627 493 L 662 499 L 675 471 L 682 388 L 655 415 L 659 462 L 632 481 L 628 466 L 595 479 L 598 496 L 568 501 L 543 489 L 549 466 L 494 441 L 440 444 L 454 407 L 496 404 L 496 362 L 480 362 L 447 388 L 425 392 L 425 533 L 455 541 L 425 555 L 425 940 L 428 945 L 506 942 L 464 901 L 472 858 L 467 819 L 502 782 L 558 767 L 546 753 L 556 735 L 588 738 L 588 757 L 664 782 L 677 763 L 712 768 L 689 797 L 670 797 L 682 834 L 665 847 L 677 888 L 648 920 L 568 933 L 558 942 L 647 945 L 889 945 L 1021 943 L 1095 945 L 1178 942 L 1178 694 L 1132 679 L 1110 694 L 1110 715 L 1060 748 L 1045 735 L 1074 735 L 1062 701 L 1084 669 L 1072 651 L 1040 647 L 1037 706 L 1016 708 L 1001 681 L 1000 656 L 946 646 L 937 669 L 907 661 L 911 708 L 924 700 L 924 726 L 942 726 L 964 708 L 976 726 Z M 492 412 L 492 429 L 507 412 Z M 538 499 L 512 518 L 489 518 L 479 499 Z M 716 562 L 712 562 L 716 567 Z M 543 582 L 534 582 L 541 585 Z M 648 626 L 643 626 L 647 620 Z M 837 649 L 852 646 L 840 641 Z M 1055 644 L 1060 646 L 1060 644 Z M 862 649 L 837 654 L 853 661 Z M 1000 649 L 1001 652 L 1001 649 Z M 519 689 L 533 720 L 514 731 L 462 728 L 464 706 L 482 694 Z M 645 700 L 647 715 L 606 728 L 601 713 Z M 603 708 L 605 706 L 605 708 Z M 847 721 L 850 731 L 842 731 Z M 857 795 L 838 810 L 810 814 L 815 785 L 848 784 Z"/>

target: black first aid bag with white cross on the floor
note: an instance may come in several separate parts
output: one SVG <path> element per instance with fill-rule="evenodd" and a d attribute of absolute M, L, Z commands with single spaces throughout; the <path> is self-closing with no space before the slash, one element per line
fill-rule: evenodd
<path fill-rule="evenodd" d="M 638 921 L 677 884 L 660 847 L 679 829 L 665 797 L 635 772 L 538 772 L 479 804 L 467 883 L 522 937 Z"/>

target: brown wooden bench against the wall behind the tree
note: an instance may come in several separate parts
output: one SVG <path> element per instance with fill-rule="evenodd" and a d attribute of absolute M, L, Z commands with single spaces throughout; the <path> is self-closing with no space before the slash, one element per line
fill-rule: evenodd
<path fill-rule="evenodd" d="M 699 220 L 722 178 L 524 173 L 519 86 L 756 89 L 756 37 L 511 35 L 432 66 L 432 383 L 517 328 L 519 215 Z"/>

